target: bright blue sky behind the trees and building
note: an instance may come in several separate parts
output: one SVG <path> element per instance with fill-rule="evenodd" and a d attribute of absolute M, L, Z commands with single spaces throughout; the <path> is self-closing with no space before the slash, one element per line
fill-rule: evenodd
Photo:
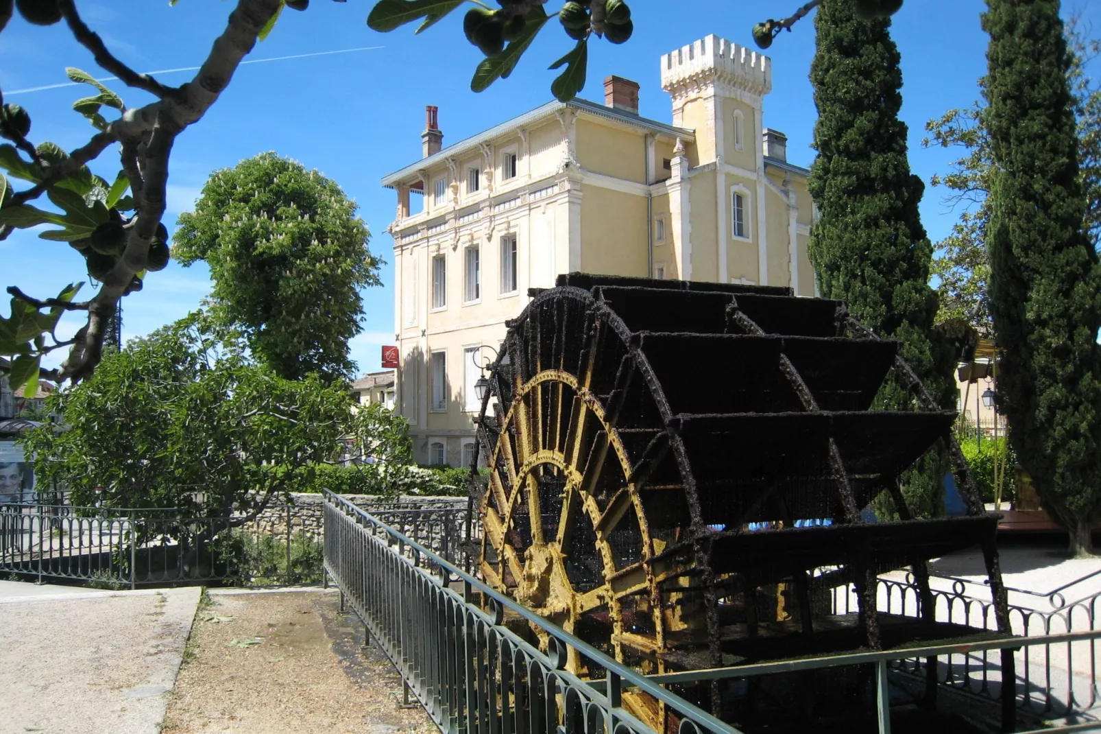
<path fill-rule="evenodd" d="M 454 143 L 549 99 L 555 72 L 547 66 L 569 43 L 548 25 L 509 79 L 488 91 L 470 91 L 470 76 L 481 54 L 461 35 L 461 12 L 421 36 L 411 26 L 388 34 L 367 28 L 373 2 L 314 0 L 308 11 L 286 10 L 250 60 L 383 46 L 369 51 L 272 61 L 242 66 L 221 98 L 197 125 L 176 141 L 168 180 L 165 225 L 173 230 L 179 212 L 188 211 L 211 171 L 232 166 L 273 150 L 334 179 L 360 205 L 371 228 L 371 250 L 392 260 L 386 225 L 393 219 L 395 195 L 380 180 L 421 158 L 419 133 L 425 105 L 439 107 L 444 144 Z M 554 0 L 550 6 L 559 3 Z M 752 46 L 753 23 L 791 13 L 800 0 L 633 0 L 634 36 L 624 45 L 591 44 L 588 83 L 582 97 L 602 101 L 602 79 L 618 74 L 642 85 L 640 112 L 669 121 L 668 97 L 658 82 L 658 56 L 709 33 Z M 142 72 L 199 65 L 225 26 L 231 2 L 179 0 L 79 0 L 78 9 L 108 47 Z M 676 8 L 676 10 L 672 10 Z M 924 150 L 920 140 L 930 118 L 978 98 L 975 80 L 984 73 L 986 36 L 979 24 L 982 0 L 908 0 L 895 15 L 893 35 L 902 52 L 903 120 L 909 126 L 911 165 L 928 182 L 945 172 L 951 151 Z M 1065 12 L 1081 12 L 1101 33 L 1098 0 L 1072 0 Z M 765 125 L 788 136 L 788 160 L 809 165 L 815 107 L 807 79 L 814 55 L 810 19 L 784 33 L 768 53 L 773 91 L 765 98 Z M 66 82 L 64 67 L 77 66 L 107 76 L 91 55 L 77 45 L 64 24 L 28 25 L 14 18 L 0 34 L 0 88 L 6 101 L 28 108 L 31 139 L 52 140 L 67 150 L 87 141 L 91 127 L 72 102 L 88 93 L 79 87 L 23 91 Z M 1092 71 L 1092 69 L 1091 69 Z M 165 74 L 166 84 L 182 84 L 193 73 Z M 109 83 L 128 105 L 148 101 L 144 93 Z M 94 170 L 113 179 L 117 159 L 109 151 Z M 922 216 L 929 236 L 942 238 L 956 220 L 944 203 L 944 191 L 927 187 Z M 0 242 L 0 281 L 19 284 L 37 295 L 55 294 L 72 281 L 87 280 L 83 258 L 63 242 L 18 231 Z M 393 341 L 393 269 L 382 268 L 382 288 L 363 293 L 364 333 L 352 343 L 360 373 L 379 368 L 379 347 Z M 86 288 L 88 288 L 86 285 Z M 145 334 L 195 309 L 209 288 L 199 263 L 151 273 L 145 289 L 124 299 L 123 337 Z M 0 301 L 7 314 L 7 299 Z M 69 319 L 58 335 L 78 322 Z M 57 364 L 62 357 L 55 353 Z M 52 355 L 53 356 L 53 355 Z"/>

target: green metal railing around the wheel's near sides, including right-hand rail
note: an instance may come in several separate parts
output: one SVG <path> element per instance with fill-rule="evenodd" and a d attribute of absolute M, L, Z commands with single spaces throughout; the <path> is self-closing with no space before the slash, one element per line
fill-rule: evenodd
<path fill-rule="evenodd" d="M 1101 632 L 1046 637 L 993 639 L 739 666 L 712 670 L 645 676 L 610 659 L 600 650 L 564 632 L 526 607 L 499 594 L 464 572 L 455 562 L 426 548 L 382 519 L 338 495 L 325 494 L 325 570 L 363 622 L 366 641 L 373 638 L 412 692 L 444 732 L 635 732 L 652 730 L 623 706 L 624 690 L 636 689 L 680 717 L 679 732 L 739 734 L 664 686 L 685 686 L 724 679 L 759 679 L 794 671 L 872 666 L 879 731 L 891 731 L 892 684 L 914 672 L 912 662 L 958 658 L 983 659 L 1003 649 L 1029 651 L 1056 646 L 1095 649 Z M 893 582 L 884 582 L 893 583 Z M 881 598 L 883 589 L 881 587 Z M 476 598 L 481 604 L 476 603 Z M 487 607 L 488 611 L 483 609 Z M 885 611 L 882 608 L 881 611 Z M 505 626 L 505 613 L 531 624 L 549 640 L 547 652 L 530 645 Z M 992 613 L 991 613 L 992 614 Z M 992 618 L 992 617 L 991 617 Z M 570 651 L 607 671 L 600 680 L 585 680 L 565 670 Z M 1021 655 L 1022 652 L 1017 652 Z M 994 655 L 996 658 L 998 656 Z M 1092 658 L 1091 658 L 1092 659 Z M 966 665 L 966 663 L 964 663 Z M 1020 668 L 1018 668 L 1020 669 Z M 1034 684 L 1015 679 L 1004 691 L 1022 705 Z M 1091 668 L 1092 670 L 1092 668 Z M 941 677 L 938 689 L 952 689 L 969 669 Z M 1003 694 L 996 671 L 984 663 L 982 691 L 992 702 Z M 889 683 L 889 676 L 892 682 Z M 1091 672 L 1091 680 L 1092 680 Z M 973 700 L 973 699 L 971 699 Z M 994 706 L 993 710 L 1005 706 Z M 1101 722 L 1070 722 L 1046 732 L 1101 728 Z M 664 733 L 663 733 L 664 734 Z"/>

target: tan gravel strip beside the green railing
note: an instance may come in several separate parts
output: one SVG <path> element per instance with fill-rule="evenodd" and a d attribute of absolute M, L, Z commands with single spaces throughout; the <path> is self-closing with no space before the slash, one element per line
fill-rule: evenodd
<path fill-rule="evenodd" d="M 165 734 L 436 732 L 333 593 L 215 594 L 196 616 Z M 358 635 L 358 637 L 357 637 Z"/>

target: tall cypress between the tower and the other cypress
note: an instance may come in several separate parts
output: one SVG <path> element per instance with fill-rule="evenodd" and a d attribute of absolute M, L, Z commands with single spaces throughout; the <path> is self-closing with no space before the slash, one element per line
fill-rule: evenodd
<path fill-rule="evenodd" d="M 953 360 L 934 331 L 937 294 L 929 288 L 933 246 L 917 205 L 925 184 L 909 171 L 898 48 L 891 20 L 860 20 L 852 0 L 826 0 L 815 17 L 817 51 L 810 65 L 818 121 L 810 195 L 819 219 L 809 255 L 818 287 L 884 338 L 946 408 L 956 408 Z M 907 410 L 913 397 L 889 380 L 876 398 L 883 410 Z M 944 452 L 933 452 L 904 477 L 907 504 L 918 515 L 942 511 Z"/>

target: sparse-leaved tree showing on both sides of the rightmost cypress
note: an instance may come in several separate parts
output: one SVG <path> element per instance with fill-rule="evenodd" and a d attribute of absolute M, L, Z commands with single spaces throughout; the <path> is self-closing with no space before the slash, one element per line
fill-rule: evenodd
<path fill-rule="evenodd" d="M 1101 86 L 1087 76 L 1086 64 L 1101 53 L 1101 41 L 1087 39 L 1086 30 L 1072 18 L 1066 31 L 1070 51 L 1067 78 L 1078 128 L 1079 176 L 1086 191 L 1086 228 L 1094 249 L 1101 236 Z M 980 86 L 983 83 L 980 80 Z M 993 334 L 988 282 L 990 261 L 986 257 L 986 225 L 990 222 L 990 183 L 993 166 L 990 136 L 983 123 L 984 101 L 967 109 L 950 109 L 936 120 L 929 120 L 925 147 L 962 149 L 962 158 L 952 162 L 952 170 L 933 176 L 934 186 L 949 190 L 946 201 L 960 206 L 960 218 L 951 234 L 937 242 L 938 257 L 933 260 L 933 274 L 939 280 L 937 295 L 940 307 L 938 322 L 963 320 L 982 334 Z"/>

